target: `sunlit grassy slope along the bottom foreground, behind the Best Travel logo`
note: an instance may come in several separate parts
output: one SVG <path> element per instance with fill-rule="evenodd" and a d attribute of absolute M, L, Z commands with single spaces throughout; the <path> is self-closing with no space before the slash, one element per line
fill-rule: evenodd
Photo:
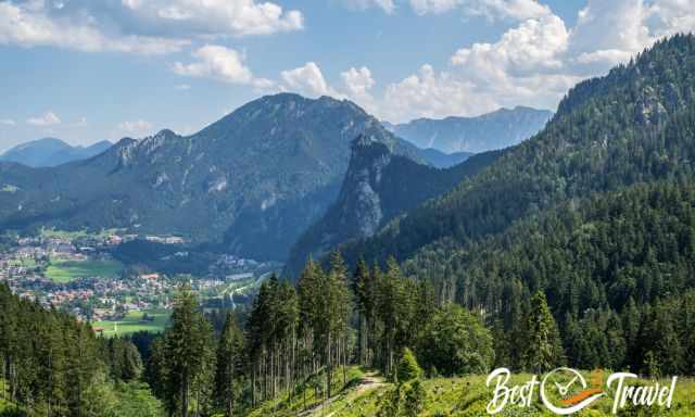
<path fill-rule="evenodd" d="M 341 375 L 338 372 L 338 375 Z M 314 399 L 312 388 L 306 390 L 308 406 L 304 407 L 302 395 L 295 395 L 293 400 L 287 396 L 281 399 L 275 410 L 275 416 L 331 416 L 331 417 L 367 417 L 376 416 L 379 404 L 384 394 L 393 389 L 392 383 L 364 383 L 369 379 L 369 374 L 358 368 L 350 368 L 351 382 L 338 392 L 331 402 L 327 402 L 324 407 Z M 589 375 L 586 375 L 589 380 Z M 492 397 L 492 388 L 485 387 L 486 376 L 469 376 L 465 378 L 433 378 L 426 379 L 424 387 L 427 392 L 425 412 L 419 416 L 488 416 L 485 407 Z M 517 375 L 513 378 L 515 383 L 527 382 L 531 376 Z M 350 378 L 349 378 L 350 380 Z M 340 380 L 342 382 L 342 379 Z M 380 380 L 379 382 L 382 382 Z M 641 381 L 650 384 L 650 381 Z M 670 381 L 660 381 L 670 383 Z M 631 382 L 631 384 L 634 384 Z M 339 384 L 333 384 L 340 389 Z M 603 399 L 591 407 L 576 414 L 577 416 L 612 416 L 612 396 Z M 273 404 L 266 403 L 255 409 L 251 416 L 273 415 Z M 695 416 L 695 380 L 679 378 L 673 405 L 670 410 L 662 410 L 657 407 L 643 408 L 640 412 L 634 409 L 623 409 L 619 416 Z M 546 410 L 538 397 L 538 389 L 534 403 L 530 408 L 519 408 L 507 406 L 498 416 L 553 416 Z"/>

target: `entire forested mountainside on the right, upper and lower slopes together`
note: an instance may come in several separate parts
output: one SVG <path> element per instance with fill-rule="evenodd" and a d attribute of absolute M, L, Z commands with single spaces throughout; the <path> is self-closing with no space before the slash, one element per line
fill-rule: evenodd
<path fill-rule="evenodd" d="M 680 35 L 579 84 L 539 135 L 343 249 L 353 265 L 395 255 L 438 304 L 483 315 L 500 366 L 535 369 L 528 334 L 542 331 L 540 368 L 690 374 L 694 160 L 695 37 Z M 532 294 L 544 325 L 523 318 Z"/>

